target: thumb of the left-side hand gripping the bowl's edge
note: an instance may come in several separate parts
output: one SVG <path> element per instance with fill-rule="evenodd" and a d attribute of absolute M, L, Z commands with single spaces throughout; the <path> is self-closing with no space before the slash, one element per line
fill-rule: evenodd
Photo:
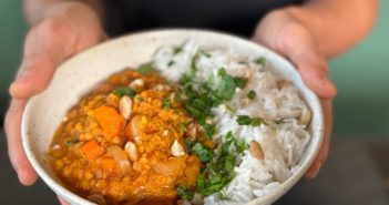
<path fill-rule="evenodd" d="M 17 99 L 29 99 L 47 88 L 55 68 L 75 47 L 76 37 L 63 18 L 44 20 L 32 29 L 24 43 L 23 62 L 10 93 Z"/>

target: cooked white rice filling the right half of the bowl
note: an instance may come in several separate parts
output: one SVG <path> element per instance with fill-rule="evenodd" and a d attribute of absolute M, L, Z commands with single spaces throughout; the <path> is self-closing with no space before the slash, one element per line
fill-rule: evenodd
<path fill-rule="evenodd" d="M 204 50 L 192 40 L 182 47 L 181 52 L 174 51 L 173 47 L 161 48 L 153 59 L 162 75 L 173 82 L 191 72 L 191 63 L 196 53 L 196 81 L 213 78 L 214 86 L 217 88 L 221 83 L 217 74 L 221 68 L 229 75 L 248 78 L 246 86 L 243 90 L 237 89 L 228 104 L 214 107 L 217 125 L 214 140 L 232 131 L 235 136 L 245 139 L 245 142 L 257 141 L 264 150 L 264 160 L 254 158 L 248 150 L 238 157 L 240 164 L 235 167 L 237 175 L 225 188 L 229 199 L 219 201 L 218 195 L 213 194 L 205 197 L 205 204 L 243 204 L 277 188 L 297 168 L 310 141 L 305 125 L 297 120 L 303 109 L 307 107 L 298 90 L 293 85 L 279 89 L 279 76 L 266 65 L 255 63 L 254 58 L 257 57 L 242 57 L 228 48 Z M 201 54 L 203 52 L 208 54 Z M 247 99 L 250 90 L 257 93 L 254 100 Z M 287 123 L 238 125 L 237 115 L 260 116 L 269 121 L 287 119 Z"/>

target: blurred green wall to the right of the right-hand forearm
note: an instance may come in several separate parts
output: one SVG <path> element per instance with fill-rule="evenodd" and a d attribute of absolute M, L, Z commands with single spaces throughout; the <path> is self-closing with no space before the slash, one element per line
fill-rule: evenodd
<path fill-rule="evenodd" d="M 389 1 L 380 2 L 370 35 L 330 63 L 338 86 L 335 133 L 389 139 Z"/>

